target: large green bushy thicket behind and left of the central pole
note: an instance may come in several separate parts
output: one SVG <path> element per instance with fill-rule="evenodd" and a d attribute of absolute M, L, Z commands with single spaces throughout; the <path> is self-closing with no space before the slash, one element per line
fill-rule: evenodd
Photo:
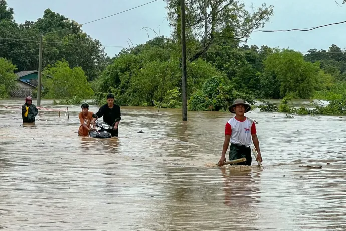
<path fill-rule="evenodd" d="M 175 46 L 174 41 L 157 38 L 154 42 L 124 50 L 95 82 L 98 92 L 95 102 L 102 100 L 101 97 L 106 95 L 103 93 L 112 91 L 116 98 L 122 98 L 120 103 L 126 105 L 157 106 L 161 102 L 162 107 L 180 107 L 181 98 L 177 91 L 181 95 L 182 72 Z M 222 75 L 202 59 L 188 63 L 187 73 L 188 97 L 201 89 L 206 79 Z M 168 100 L 167 97 L 175 99 Z"/>

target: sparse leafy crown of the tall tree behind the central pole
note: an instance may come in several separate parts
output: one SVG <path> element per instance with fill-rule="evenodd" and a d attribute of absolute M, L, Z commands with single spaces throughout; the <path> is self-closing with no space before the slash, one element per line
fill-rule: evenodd
<path fill-rule="evenodd" d="M 180 2 L 177 0 L 166 0 L 166 2 L 168 20 L 175 28 L 174 32 L 177 32 L 174 35 L 180 38 Z M 190 62 L 208 51 L 218 33 L 225 28 L 231 28 L 227 35 L 229 39 L 246 41 L 253 30 L 263 27 L 273 15 L 273 6 L 266 7 L 263 4 L 250 14 L 245 9 L 245 4 L 240 2 L 239 0 L 186 1 L 187 38 L 200 41 L 192 48 L 193 55 L 189 58 Z"/>

